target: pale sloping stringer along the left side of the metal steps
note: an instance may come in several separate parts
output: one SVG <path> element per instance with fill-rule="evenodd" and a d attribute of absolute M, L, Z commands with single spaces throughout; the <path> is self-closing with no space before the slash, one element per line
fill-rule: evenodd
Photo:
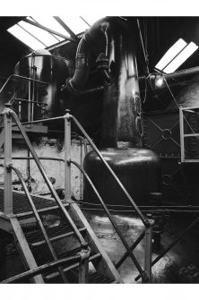
<path fill-rule="evenodd" d="M 27 269 L 37 269 L 38 265 L 30 251 L 30 246 L 22 232 L 20 222 L 16 217 L 10 218 L 11 225 L 13 227 L 13 234 L 16 237 L 17 248 L 22 256 L 22 261 Z M 41 275 L 34 276 L 31 281 L 33 283 L 45 283 Z"/>

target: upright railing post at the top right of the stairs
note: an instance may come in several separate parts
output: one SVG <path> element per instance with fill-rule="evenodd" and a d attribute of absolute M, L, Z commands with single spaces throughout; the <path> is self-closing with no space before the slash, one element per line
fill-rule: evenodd
<path fill-rule="evenodd" d="M 65 110 L 65 201 L 71 200 L 71 120 L 69 109 Z"/>

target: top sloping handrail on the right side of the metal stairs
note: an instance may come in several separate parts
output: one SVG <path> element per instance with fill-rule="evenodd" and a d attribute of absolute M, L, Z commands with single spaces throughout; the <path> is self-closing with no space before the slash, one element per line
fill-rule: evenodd
<path fill-rule="evenodd" d="M 103 156 L 101 155 L 101 153 L 99 152 L 98 148 L 95 146 L 94 142 L 91 141 L 90 136 L 84 131 L 84 129 L 82 128 L 82 125 L 77 121 L 77 119 L 70 115 L 70 117 L 74 120 L 74 123 L 77 125 L 77 127 L 80 129 L 80 131 L 82 132 L 82 134 L 85 136 L 85 138 L 87 139 L 87 141 L 89 141 L 89 143 L 91 144 L 91 147 L 93 148 L 93 150 L 96 152 L 96 154 L 98 155 L 99 159 L 101 159 L 101 161 L 104 163 L 104 165 L 108 168 L 109 173 L 113 176 L 113 178 L 116 180 L 117 184 L 120 186 L 120 188 L 122 189 L 122 191 L 125 193 L 125 196 L 127 197 L 127 199 L 131 202 L 131 204 L 134 207 L 134 210 L 137 212 L 137 214 L 139 215 L 140 219 L 142 219 L 143 221 L 143 225 L 145 227 L 151 227 L 151 223 L 149 221 L 149 219 L 147 219 L 146 217 L 143 216 L 143 213 L 141 210 L 139 210 L 139 208 L 137 207 L 137 205 L 135 204 L 134 200 L 132 199 L 132 197 L 130 196 L 130 194 L 125 190 L 124 185 L 121 183 L 121 181 L 118 179 L 117 175 L 115 174 L 115 172 L 112 170 L 111 167 L 109 167 L 108 162 L 103 158 Z"/>

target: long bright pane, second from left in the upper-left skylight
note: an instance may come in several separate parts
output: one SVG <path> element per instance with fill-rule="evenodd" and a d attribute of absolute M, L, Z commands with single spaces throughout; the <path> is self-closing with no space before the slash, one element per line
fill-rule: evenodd
<path fill-rule="evenodd" d="M 38 27 L 31 25 L 25 21 L 19 21 L 18 24 L 21 25 L 25 30 L 28 30 L 33 36 L 43 42 L 47 47 L 57 43 L 57 39 L 55 39 L 46 30 L 41 30 Z"/>

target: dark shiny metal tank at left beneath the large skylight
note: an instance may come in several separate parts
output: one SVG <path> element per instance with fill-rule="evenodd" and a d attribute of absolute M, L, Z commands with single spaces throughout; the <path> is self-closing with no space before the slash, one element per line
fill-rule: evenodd
<path fill-rule="evenodd" d="M 22 121 L 27 121 L 29 118 L 36 120 L 63 115 L 59 105 L 59 93 L 65 79 L 69 76 L 70 61 L 63 57 L 51 56 L 47 50 L 41 52 L 45 54 L 39 53 L 40 51 L 23 56 L 14 69 L 17 75 L 48 83 L 42 85 L 24 80 L 16 82 L 16 98 L 31 98 L 38 102 L 30 112 L 27 102 L 22 102 L 20 105 L 16 103 L 15 109 Z"/>

